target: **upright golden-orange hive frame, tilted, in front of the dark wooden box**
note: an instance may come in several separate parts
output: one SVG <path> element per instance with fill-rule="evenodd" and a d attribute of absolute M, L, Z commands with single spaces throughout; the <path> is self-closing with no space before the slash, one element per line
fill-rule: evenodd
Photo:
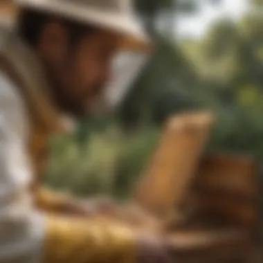
<path fill-rule="evenodd" d="M 185 198 L 212 125 L 209 113 L 170 118 L 158 150 L 136 192 L 136 201 L 156 215 L 169 215 Z"/>

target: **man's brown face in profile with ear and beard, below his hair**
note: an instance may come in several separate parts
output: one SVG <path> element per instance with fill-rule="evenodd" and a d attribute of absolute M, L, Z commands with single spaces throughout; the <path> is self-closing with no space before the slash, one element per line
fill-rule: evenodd
<path fill-rule="evenodd" d="M 97 30 L 72 45 L 63 26 L 48 26 L 39 47 L 51 80 L 51 93 L 64 111 L 75 116 L 91 114 L 111 78 L 111 62 L 120 37 Z"/>

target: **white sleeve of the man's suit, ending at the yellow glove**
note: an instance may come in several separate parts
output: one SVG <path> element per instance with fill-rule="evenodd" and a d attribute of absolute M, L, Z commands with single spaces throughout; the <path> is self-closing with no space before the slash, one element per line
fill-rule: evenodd
<path fill-rule="evenodd" d="M 28 190 L 28 122 L 18 90 L 0 71 L 0 262 L 41 262 L 44 217 Z"/>

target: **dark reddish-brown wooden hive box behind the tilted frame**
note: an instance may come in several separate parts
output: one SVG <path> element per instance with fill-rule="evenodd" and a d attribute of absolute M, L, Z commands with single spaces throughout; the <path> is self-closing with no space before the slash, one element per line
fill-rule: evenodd
<path fill-rule="evenodd" d="M 250 156 L 215 154 L 199 166 L 194 191 L 202 209 L 222 221 L 258 229 L 259 183 L 257 163 Z"/>

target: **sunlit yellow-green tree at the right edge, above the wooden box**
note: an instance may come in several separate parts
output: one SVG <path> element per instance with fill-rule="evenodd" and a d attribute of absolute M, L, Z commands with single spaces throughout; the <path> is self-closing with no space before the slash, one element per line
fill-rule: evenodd
<path fill-rule="evenodd" d="M 190 45 L 188 57 L 218 100 L 220 118 L 212 147 L 263 154 L 262 26 L 262 17 L 248 12 L 235 24 L 217 21 L 201 42 Z"/>

